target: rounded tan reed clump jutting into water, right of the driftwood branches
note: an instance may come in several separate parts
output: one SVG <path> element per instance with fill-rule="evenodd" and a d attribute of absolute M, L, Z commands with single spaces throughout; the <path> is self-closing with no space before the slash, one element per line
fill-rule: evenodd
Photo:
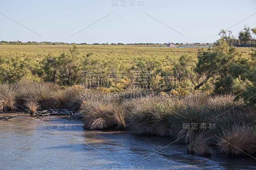
<path fill-rule="evenodd" d="M 123 129 L 125 127 L 124 109 L 119 100 L 111 97 L 84 100 L 80 112 L 84 115 L 84 129 Z"/>

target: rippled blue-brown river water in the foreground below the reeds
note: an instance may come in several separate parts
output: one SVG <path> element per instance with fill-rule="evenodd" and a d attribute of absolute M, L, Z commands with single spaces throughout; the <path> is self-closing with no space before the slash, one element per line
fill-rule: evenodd
<path fill-rule="evenodd" d="M 61 117 L 0 120 L 0 169 L 256 169 L 253 158 L 204 158 L 168 138 L 86 131 Z"/>

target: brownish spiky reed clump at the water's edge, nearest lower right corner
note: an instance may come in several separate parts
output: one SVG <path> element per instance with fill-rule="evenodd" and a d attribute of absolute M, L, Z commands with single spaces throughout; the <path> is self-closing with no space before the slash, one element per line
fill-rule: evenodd
<path fill-rule="evenodd" d="M 238 156 L 256 152 L 256 136 L 252 125 L 234 123 L 231 127 L 222 127 L 218 151 L 227 155 Z"/>

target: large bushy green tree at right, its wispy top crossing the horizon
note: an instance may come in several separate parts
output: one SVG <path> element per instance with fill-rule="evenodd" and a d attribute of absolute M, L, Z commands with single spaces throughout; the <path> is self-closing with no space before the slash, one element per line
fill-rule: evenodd
<path fill-rule="evenodd" d="M 243 74 L 246 70 L 246 59 L 236 47 L 230 43 L 232 36 L 221 30 L 221 38 L 217 40 L 213 48 L 198 53 L 196 72 L 205 75 L 205 81 L 212 78 L 215 84 L 215 92 L 231 92 L 231 86 L 237 73 Z M 204 82 L 205 82 L 204 81 Z"/>

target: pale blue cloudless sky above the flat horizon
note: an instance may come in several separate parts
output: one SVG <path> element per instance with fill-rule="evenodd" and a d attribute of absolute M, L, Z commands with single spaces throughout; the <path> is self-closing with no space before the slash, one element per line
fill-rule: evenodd
<path fill-rule="evenodd" d="M 256 26 L 255 0 L 140 1 L 1 0 L 0 41 L 206 43 L 216 41 L 222 28 L 232 26 L 237 35 L 245 24 Z"/>

